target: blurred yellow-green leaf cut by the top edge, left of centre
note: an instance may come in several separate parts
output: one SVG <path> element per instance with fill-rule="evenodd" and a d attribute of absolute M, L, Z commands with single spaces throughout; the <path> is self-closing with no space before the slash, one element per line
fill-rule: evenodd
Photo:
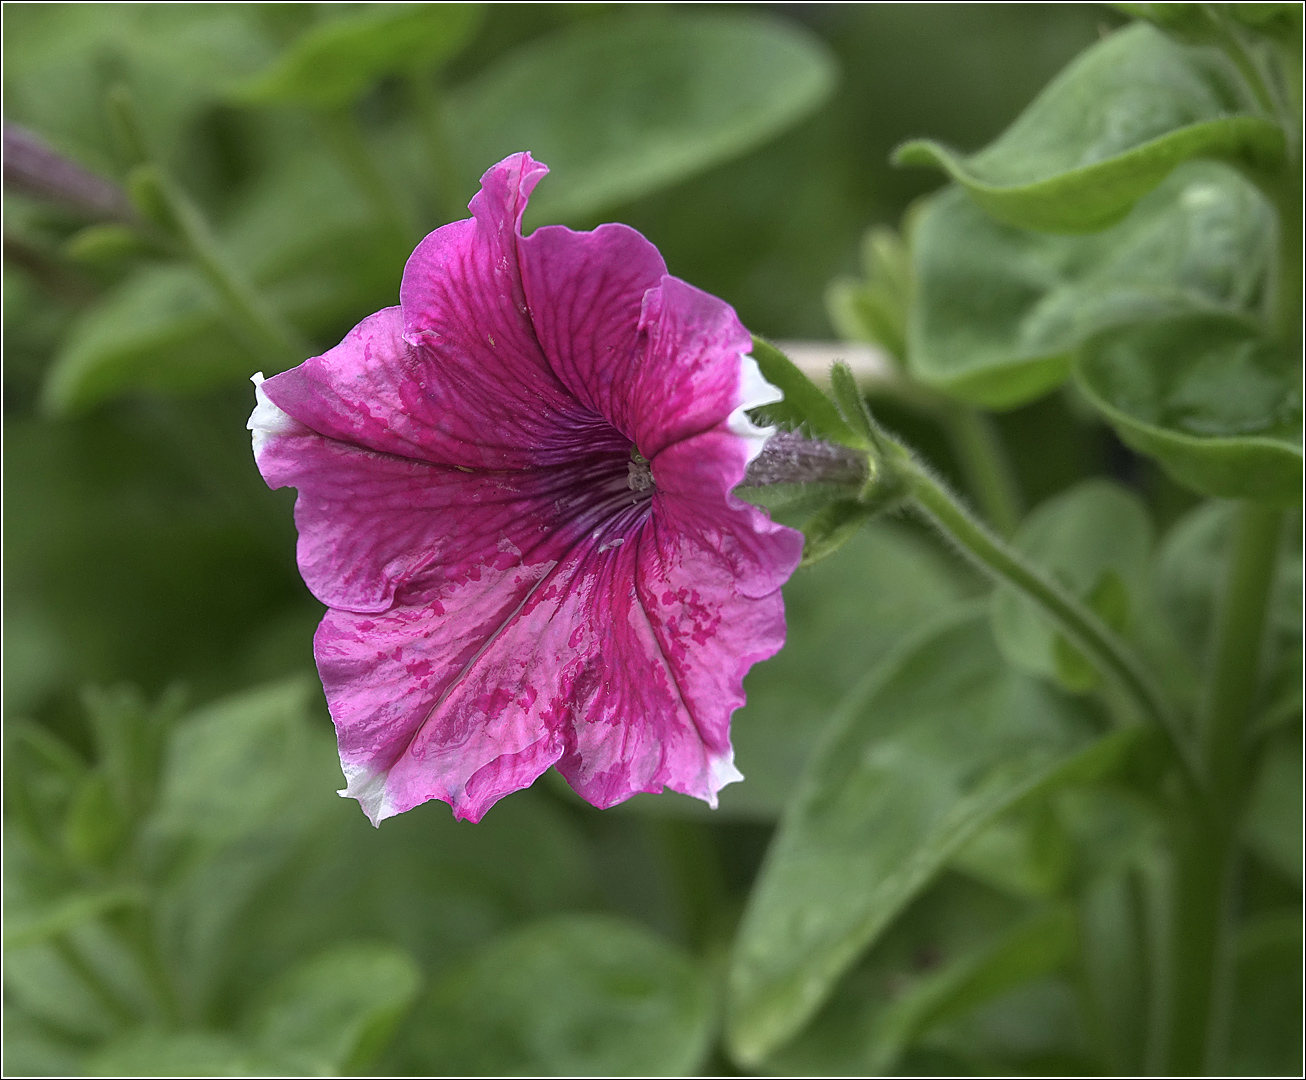
<path fill-rule="evenodd" d="M 439 67 L 471 38 L 481 16 L 479 4 L 370 4 L 311 26 L 234 97 L 251 104 L 343 106 L 381 76 Z"/>

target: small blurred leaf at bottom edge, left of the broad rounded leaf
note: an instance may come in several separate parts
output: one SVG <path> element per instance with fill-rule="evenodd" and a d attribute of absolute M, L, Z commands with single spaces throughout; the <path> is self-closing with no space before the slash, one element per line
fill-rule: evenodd
<path fill-rule="evenodd" d="M 422 985 L 390 945 L 333 945 L 282 976 L 253 1011 L 251 1041 L 311 1076 L 367 1072 Z"/>

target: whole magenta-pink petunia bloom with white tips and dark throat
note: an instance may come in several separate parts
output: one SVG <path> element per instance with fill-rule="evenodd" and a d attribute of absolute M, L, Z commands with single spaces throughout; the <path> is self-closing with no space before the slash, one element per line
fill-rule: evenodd
<path fill-rule="evenodd" d="M 398 307 L 255 376 L 255 457 L 299 490 L 313 641 L 374 824 L 477 821 L 556 767 L 609 807 L 741 780 L 730 714 L 784 644 L 802 537 L 731 488 L 778 398 L 734 311 L 635 230 L 521 235 L 515 154 L 418 244 Z"/>

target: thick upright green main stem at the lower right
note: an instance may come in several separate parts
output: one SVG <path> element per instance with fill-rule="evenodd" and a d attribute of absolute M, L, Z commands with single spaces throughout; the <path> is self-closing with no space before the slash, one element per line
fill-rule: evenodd
<path fill-rule="evenodd" d="M 1168 1071 L 1218 1072 L 1228 999 L 1238 823 L 1284 511 L 1243 503 L 1220 598 L 1200 726 L 1205 799 L 1175 821 Z"/>

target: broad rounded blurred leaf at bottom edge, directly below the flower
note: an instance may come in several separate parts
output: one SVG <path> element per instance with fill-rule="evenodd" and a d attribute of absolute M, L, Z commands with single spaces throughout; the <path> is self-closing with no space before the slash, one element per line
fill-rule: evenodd
<path fill-rule="evenodd" d="M 709 981 L 678 948 L 607 915 L 505 935 L 445 979 L 418 1024 L 419 1072 L 682 1076 L 699 1072 Z"/>

